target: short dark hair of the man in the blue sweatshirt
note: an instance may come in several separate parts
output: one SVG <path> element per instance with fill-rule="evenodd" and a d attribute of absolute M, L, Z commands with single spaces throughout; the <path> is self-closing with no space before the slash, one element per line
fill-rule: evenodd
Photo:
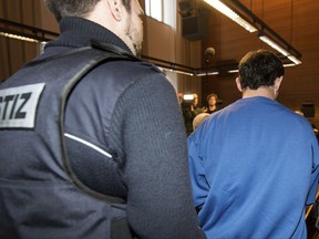
<path fill-rule="evenodd" d="M 266 50 L 248 52 L 240 60 L 238 70 L 241 89 L 251 90 L 274 85 L 275 80 L 285 73 L 280 59 Z"/>

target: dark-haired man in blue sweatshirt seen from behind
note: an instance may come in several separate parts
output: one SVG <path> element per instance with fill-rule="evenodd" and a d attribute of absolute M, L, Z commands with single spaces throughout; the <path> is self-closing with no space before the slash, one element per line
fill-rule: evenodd
<path fill-rule="evenodd" d="M 248 52 L 243 97 L 188 137 L 193 199 L 207 238 L 307 238 L 305 208 L 318 186 L 319 148 L 309 122 L 276 101 L 284 79 L 270 51 Z"/>

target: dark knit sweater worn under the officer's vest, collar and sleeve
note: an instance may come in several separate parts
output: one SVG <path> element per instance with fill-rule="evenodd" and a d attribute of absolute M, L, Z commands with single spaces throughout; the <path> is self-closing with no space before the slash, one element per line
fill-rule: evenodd
<path fill-rule="evenodd" d="M 44 56 L 90 45 L 91 39 L 130 51 L 115 34 L 84 19 L 62 19 L 60 28 L 61 35 L 47 44 Z M 186 135 L 173 86 L 152 65 L 141 73 L 126 65 L 132 63 L 107 64 L 104 83 L 88 75 L 72 93 L 65 128 L 93 138 L 117 164 L 96 162 L 85 152 L 70 148 L 74 172 L 91 188 L 127 199 L 128 222 L 140 238 L 204 238 L 193 206 Z M 90 92 L 107 87 L 110 74 L 119 81 L 133 77 L 134 83 L 119 98 Z M 99 101 L 111 100 L 116 101 L 112 111 L 96 114 L 94 107 L 86 107 L 88 101 L 99 105 Z M 104 127 L 104 119 L 110 125 Z"/>

